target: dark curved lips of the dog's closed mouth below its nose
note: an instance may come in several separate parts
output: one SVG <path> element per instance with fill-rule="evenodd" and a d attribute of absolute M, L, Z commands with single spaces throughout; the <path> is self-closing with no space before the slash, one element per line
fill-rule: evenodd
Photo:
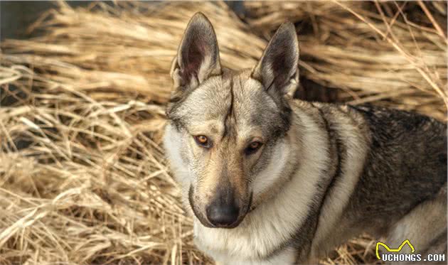
<path fill-rule="evenodd" d="M 238 225 L 241 224 L 241 222 L 245 219 L 246 215 L 253 210 L 251 207 L 252 205 L 252 195 L 253 193 L 250 193 L 250 197 L 247 203 L 245 205 L 242 205 L 242 209 L 239 212 L 237 220 L 235 222 L 232 222 L 231 224 L 213 224 L 210 222 L 207 218 L 207 216 L 204 214 L 204 211 L 201 211 L 196 207 L 194 200 L 193 200 L 193 187 L 190 186 L 190 189 L 188 190 L 188 202 L 190 204 L 191 210 L 193 210 L 193 214 L 198 218 L 199 222 L 204 227 L 209 228 L 235 228 L 238 227 Z"/>

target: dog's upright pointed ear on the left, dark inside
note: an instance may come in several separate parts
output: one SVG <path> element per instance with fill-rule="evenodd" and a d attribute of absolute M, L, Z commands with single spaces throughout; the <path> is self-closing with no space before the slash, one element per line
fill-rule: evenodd
<path fill-rule="evenodd" d="M 212 75 L 220 75 L 218 42 L 213 26 L 203 13 L 188 22 L 181 45 L 171 65 L 174 87 L 197 87 Z"/>

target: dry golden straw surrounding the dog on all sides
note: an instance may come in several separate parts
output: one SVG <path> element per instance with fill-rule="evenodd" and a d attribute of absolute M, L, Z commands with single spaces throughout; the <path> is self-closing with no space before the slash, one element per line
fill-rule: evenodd
<path fill-rule="evenodd" d="M 390 12 L 250 2 L 243 23 L 223 3 L 61 3 L 30 28 L 40 37 L 1 43 L 0 264 L 210 262 L 193 247 L 161 148 L 171 59 L 196 11 L 214 24 L 227 67 L 254 65 L 289 18 L 301 40 L 301 97 L 312 86 L 444 119 L 444 31 L 424 11 L 417 23 L 378 5 Z M 353 239 L 322 263 L 375 263 L 373 247 Z"/>

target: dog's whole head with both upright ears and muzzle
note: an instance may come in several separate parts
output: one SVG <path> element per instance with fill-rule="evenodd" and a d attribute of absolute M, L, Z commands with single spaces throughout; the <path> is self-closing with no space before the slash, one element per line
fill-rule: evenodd
<path fill-rule="evenodd" d="M 191 18 L 174 59 L 167 109 L 166 152 L 188 202 L 207 227 L 236 227 L 281 178 L 291 109 L 284 99 L 297 84 L 294 26 L 281 26 L 253 70 L 220 66 L 213 26 Z"/>

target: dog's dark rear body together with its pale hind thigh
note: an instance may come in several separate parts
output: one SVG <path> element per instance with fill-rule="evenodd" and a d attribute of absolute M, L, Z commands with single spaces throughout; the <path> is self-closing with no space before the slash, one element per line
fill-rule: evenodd
<path fill-rule="evenodd" d="M 396 109 L 353 108 L 368 122 L 372 143 L 347 215 L 382 229 L 392 246 L 410 240 L 422 259 L 446 254 L 447 124 Z"/>

